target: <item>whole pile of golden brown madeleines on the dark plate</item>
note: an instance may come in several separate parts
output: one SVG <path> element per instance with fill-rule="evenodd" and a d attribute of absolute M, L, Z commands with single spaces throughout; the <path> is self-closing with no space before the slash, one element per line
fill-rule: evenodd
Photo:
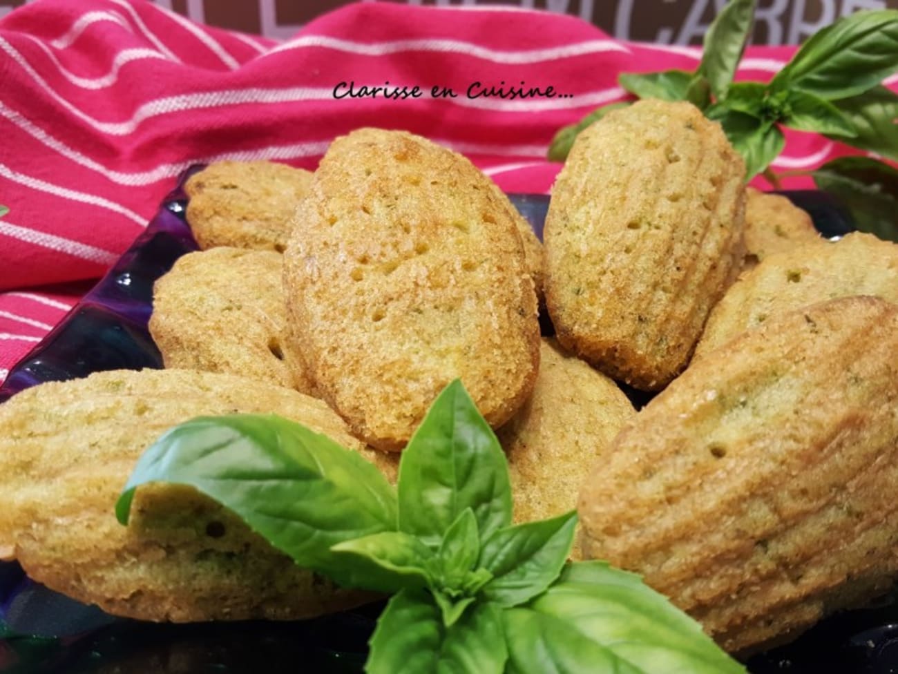
<path fill-rule="evenodd" d="M 154 288 L 166 369 L 0 407 L 0 553 L 34 579 L 151 620 L 364 601 L 188 489 L 141 487 L 120 527 L 119 490 L 169 426 L 260 411 L 394 480 L 456 378 L 506 450 L 515 520 L 576 507 L 572 556 L 643 574 L 727 650 L 898 574 L 898 246 L 823 240 L 746 189 L 690 104 L 578 136 L 544 249 L 471 162 L 400 131 L 339 137 L 314 173 L 220 162 L 186 188 L 202 250 Z M 660 393 L 637 412 L 618 382 Z"/>

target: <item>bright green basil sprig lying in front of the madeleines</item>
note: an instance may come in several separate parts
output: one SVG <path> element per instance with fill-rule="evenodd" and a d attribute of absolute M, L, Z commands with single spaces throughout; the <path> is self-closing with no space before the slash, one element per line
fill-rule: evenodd
<path fill-rule="evenodd" d="M 398 485 L 277 416 L 201 417 L 138 460 L 136 487 L 189 485 L 297 565 L 393 593 L 370 674 L 735 674 L 744 668 L 637 576 L 569 563 L 577 515 L 513 525 L 506 457 L 460 381 L 402 452 Z"/>

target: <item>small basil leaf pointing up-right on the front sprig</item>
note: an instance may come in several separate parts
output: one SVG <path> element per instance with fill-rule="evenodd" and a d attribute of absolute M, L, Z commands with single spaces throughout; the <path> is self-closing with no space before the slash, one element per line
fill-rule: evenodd
<path fill-rule="evenodd" d="M 577 512 L 500 529 L 483 543 L 480 566 L 493 574 L 483 596 L 517 606 L 545 591 L 568 560 Z"/>

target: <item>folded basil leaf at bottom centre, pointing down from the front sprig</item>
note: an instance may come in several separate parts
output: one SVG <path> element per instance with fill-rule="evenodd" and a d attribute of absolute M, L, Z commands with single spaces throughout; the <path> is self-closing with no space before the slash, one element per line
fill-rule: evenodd
<path fill-rule="evenodd" d="M 424 591 L 403 590 L 394 596 L 370 644 L 368 674 L 501 674 L 508 657 L 495 607 L 472 606 L 445 627 Z"/>

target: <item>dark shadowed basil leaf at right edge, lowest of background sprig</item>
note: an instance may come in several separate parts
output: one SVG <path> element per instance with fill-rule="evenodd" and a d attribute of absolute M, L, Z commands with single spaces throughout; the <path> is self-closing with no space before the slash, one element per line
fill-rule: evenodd
<path fill-rule="evenodd" d="M 814 182 L 848 208 L 860 232 L 898 242 L 898 171 L 867 157 L 840 157 L 812 173 Z"/>

